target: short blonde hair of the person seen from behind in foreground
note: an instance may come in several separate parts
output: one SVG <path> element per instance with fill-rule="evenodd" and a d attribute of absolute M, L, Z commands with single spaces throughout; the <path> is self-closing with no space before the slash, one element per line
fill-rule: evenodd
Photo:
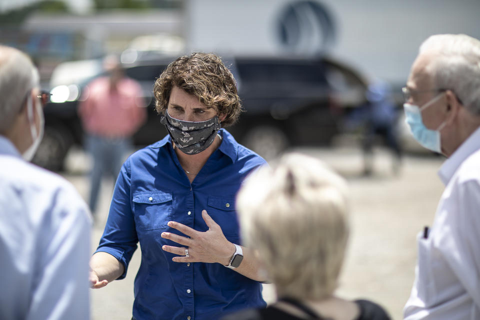
<path fill-rule="evenodd" d="M 310 156 L 291 153 L 250 175 L 237 196 L 246 246 L 279 296 L 333 293 L 348 238 L 345 181 Z"/>

